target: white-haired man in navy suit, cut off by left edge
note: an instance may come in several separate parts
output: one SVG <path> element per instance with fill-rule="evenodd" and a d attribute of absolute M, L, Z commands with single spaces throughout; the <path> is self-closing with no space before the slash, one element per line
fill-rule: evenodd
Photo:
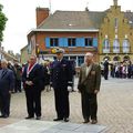
<path fill-rule="evenodd" d="M 1 70 L 0 70 L 0 100 L 1 100 L 1 116 L 8 117 L 10 115 L 10 99 L 11 91 L 14 88 L 14 75 L 13 71 L 8 69 L 8 61 L 1 61 Z"/>

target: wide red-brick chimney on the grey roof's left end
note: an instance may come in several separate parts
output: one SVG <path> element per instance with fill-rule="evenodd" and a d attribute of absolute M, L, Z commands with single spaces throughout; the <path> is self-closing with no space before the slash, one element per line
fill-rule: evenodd
<path fill-rule="evenodd" d="M 37 8 L 37 27 L 49 17 L 49 8 Z"/>

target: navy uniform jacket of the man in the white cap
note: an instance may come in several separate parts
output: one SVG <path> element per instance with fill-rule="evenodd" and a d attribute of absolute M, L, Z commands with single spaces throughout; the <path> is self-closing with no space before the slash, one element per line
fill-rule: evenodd
<path fill-rule="evenodd" d="M 62 59 L 61 62 L 55 60 L 51 68 L 52 86 L 66 89 L 69 83 L 72 83 L 72 66 L 68 60 Z"/>

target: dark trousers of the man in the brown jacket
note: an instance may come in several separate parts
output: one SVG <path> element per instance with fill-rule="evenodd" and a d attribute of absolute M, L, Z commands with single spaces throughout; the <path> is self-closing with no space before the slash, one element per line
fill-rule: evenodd
<path fill-rule="evenodd" d="M 81 101 L 82 101 L 82 115 L 84 120 L 96 120 L 96 112 L 98 112 L 98 101 L 96 94 L 82 92 L 81 93 Z"/>

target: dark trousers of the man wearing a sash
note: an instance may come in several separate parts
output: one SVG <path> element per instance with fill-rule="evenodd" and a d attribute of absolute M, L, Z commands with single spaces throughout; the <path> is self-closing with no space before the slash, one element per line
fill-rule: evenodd
<path fill-rule="evenodd" d="M 29 116 L 41 116 L 41 91 L 34 88 L 25 88 L 27 111 Z"/>

